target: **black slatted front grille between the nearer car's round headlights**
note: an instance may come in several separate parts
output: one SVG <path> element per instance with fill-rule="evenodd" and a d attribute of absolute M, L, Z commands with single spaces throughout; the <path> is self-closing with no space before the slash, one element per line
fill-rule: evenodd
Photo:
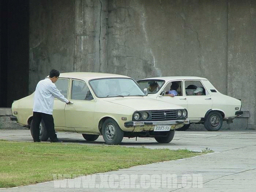
<path fill-rule="evenodd" d="M 152 121 L 168 121 L 177 119 L 176 110 L 151 111 Z"/>

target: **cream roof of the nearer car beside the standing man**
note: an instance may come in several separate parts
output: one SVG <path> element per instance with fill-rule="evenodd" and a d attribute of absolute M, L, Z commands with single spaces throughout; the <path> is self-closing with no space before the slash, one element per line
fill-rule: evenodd
<path fill-rule="evenodd" d="M 61 73 L 60 78 L 74 78 L 82 80 L 101 79 L 101 78 L 129 78 L 125 75 L 96 73 L 96 72 L 68 72 Z"/>

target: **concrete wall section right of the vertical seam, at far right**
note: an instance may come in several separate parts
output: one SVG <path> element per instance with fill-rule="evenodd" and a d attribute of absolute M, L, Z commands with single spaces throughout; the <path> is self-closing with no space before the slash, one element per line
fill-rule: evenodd
<path fill-rule="evenodd" d="M 241 98 L 250 112 L 248 127 L 256 128 L 256 1 L 229 4 L 228 95 Z"/>

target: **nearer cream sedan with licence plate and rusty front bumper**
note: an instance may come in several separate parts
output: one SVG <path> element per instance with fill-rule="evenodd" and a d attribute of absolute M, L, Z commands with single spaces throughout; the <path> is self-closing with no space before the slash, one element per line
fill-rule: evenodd
<path fill-rule="evenodd" d="M 120 144 L 123 137 L 152 137 L 169 143 L 174 129 L 189 124 L 181 106 L 148 99 L 135 80 L 115 74 L 71 72 L 55 83 L 72 105 L 54 100 L 56 132 L 82 133 L 88 141 L 103 136 L 106 144 Z M 33 120 L 34 93 L 12 104 L 18 123 L 29 127 Z M 40 139 L 48 140 L 44 122 Z"/>

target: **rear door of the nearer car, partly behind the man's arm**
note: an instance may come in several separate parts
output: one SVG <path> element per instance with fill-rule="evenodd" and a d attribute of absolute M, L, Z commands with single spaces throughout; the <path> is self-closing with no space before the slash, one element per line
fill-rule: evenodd
<path fill-rule="evenodd" d="M 69 79 L 67 78 L 59 78 L 57 82 L 55 82 L 57 89 L 60 91 L 61 94 L 67 98 L 68 95 L 68 86 L 69 86 Z M 54 127 L 56 131 L 63 130 L 65 125 L 65 102 L 60 101 L 59 99 L 54 99 L 53 105 L 53 118 L 54 118 Z"/>

